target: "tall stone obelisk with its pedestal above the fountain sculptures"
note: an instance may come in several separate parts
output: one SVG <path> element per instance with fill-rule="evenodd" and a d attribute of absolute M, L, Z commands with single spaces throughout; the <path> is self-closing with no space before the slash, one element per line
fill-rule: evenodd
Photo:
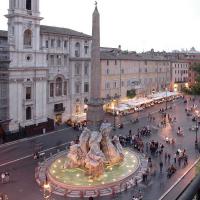
<path fill-rule="evenodd" d="M 90 101 L 88 103 L 87 121 L 92 130 L 98 130 L 104 119 L 103 101 L 101 98 L 101 62 L 100 62 L 100 16 L 95 2 L 92 15 L 92 52 Z"/>

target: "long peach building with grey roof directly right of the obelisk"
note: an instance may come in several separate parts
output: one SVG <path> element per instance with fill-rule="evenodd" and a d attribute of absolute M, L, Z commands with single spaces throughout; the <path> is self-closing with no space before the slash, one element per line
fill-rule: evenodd
<path fill-rule="evenodd" d="M 101 51 L 103 98 L 120 96 L 135 91 L 137 96 L 169 90 L 171 62 L 161 56 L 148 56 L 118 49 Z"/>

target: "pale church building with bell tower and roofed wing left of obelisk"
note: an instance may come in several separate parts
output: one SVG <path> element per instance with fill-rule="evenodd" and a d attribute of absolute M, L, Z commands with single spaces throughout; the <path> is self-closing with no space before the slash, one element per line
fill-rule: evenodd
<path fill-rule="evenodd" d="M 63 123 L 90 94 L 91 36 L 40 25 L 39 0 L 10 0 L 7 41 L 9 130 Z M 4 120 L 4 119 L 1 119 Z"/>

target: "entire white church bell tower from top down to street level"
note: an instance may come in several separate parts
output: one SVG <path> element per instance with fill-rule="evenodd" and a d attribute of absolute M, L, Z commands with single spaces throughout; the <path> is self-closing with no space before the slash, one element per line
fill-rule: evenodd
<path fill-rule="evenodd" d="M 40 48 L 39 0 L 9 0 L 10 131 L 46 122 L 47 69 Z"/>

